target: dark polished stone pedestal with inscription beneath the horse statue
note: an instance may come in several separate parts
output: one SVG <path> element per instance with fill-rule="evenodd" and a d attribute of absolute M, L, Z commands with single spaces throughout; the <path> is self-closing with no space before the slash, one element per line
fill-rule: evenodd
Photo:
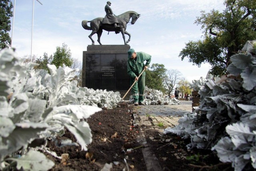
<path fill-rule="evenodd" d="M 127 51 L 130 45 L 88 45 L 83 51 L 82 87 L 119 91 L 121 97 L 130 88 Z M 128 100 L 128 93 L 125 100 Z"/>

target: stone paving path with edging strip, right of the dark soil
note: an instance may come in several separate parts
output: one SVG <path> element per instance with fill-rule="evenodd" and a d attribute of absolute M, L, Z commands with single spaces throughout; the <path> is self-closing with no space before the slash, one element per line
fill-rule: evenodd
<path fill-rule="evenodd" d="M 133 111 L 134 126 L 144 127 L 146 130 L 154 129 L 162 133 L 166 127 L 178 125 L 178 120 L 184 113 L 192 112 L 192 101 L 181 101 L 181 103 L 181 105 L 139 105 Z M 140 130 L 137 141 L 145 146 L 142 153 L 147 171 L 162 170 L 154 152 L 147 146 L 144 131 Z"/>

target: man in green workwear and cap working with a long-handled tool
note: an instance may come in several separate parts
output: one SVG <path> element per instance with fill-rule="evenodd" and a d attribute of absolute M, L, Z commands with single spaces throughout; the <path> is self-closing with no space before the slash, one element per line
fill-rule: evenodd
<path fill-rule="evenodd" d="M 127 52 L 127 73 L 130 76 L 130 86 L 135 82 L 135 80 L 137 81 L 131 89 L 134 105 L 145 105 L 143 100 L 146 72 L 143 72 L 140 78 L 138 78 L 138 76 L 144 69 L 146 70 L 148 68 L 151 61 L 151 55 L 144 52 L 135 52 L 134 49 L 129 49 Z M 144 61 L 146 61 L 146 64 L 144 64 Z"/>

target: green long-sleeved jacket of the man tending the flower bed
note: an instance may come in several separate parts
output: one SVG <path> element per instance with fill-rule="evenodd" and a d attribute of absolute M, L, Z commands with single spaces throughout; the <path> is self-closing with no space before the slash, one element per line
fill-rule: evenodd
<path fill-rule="evenodd" d="M 136 55 L 136 61 L 131 58 L 127 59 L 127 74 L 132 78 L 139 76 L 139 74 L 143 71 L 144 66 L 148 66 L 151 61 L 151 55 L 149 54 L 144 52 L 136 52 Z M 144 64 L 144 61 L 146 61 L 146 64 Z M 146 72 L 143 72 L 142 76 L 145 75 Z"/>

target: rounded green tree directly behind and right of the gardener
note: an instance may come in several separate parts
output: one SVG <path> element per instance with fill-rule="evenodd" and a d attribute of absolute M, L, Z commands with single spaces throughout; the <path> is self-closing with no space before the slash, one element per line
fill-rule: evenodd
<path fill-rule="evenodd" d="M 163 64 L 152 64 L 152 66 L 146 70 L 146 85 L 149 88 L 158 89 L 165 93 L 164 78 L 166 71 Z"/>

